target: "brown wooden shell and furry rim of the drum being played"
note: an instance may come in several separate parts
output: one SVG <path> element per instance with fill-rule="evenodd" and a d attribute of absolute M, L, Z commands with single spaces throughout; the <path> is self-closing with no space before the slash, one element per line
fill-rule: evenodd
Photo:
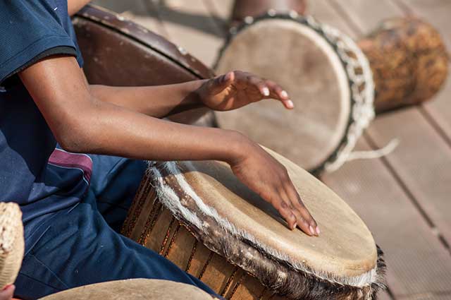
<path fill-rule="evenodd" d="M 218 227 L 208 214 L 199 210 L 199 205 L 195 204 L 192 198 L 190 199 L 190 192 L 185 190 L 183 184 L 178 185 L 180 184 L 178 179 L 171 179 L 164 175 L 163 170 L 170 168 L 163 165 L 161 168 L 158 167 L 163 178 L 159 177 L 160 171 L 155 173 L 152 168 L 144 175 L 123 224 L 122 234 L 160 253 L 182 270 L 202 280 L 218 294 L 225 296 L 226 299 L 363 300 L 373 299 L 372 297 L 381 287 L 379 285 L 381 282 L 373 282 L 371 286 L 350 287 L 334 282 L 318 281 L 317 277 L 312 276 L 310 272 L 309 275 L 303 274 L 293 269 L 291 264 L 280 263 L 271 254 L 266 253 L 264 249 L 268 248 L 258 246 L 257 241 L 235 239 L 235 235 L 230 236 L 230 232 L 221 226 Z M 161 190 L 161 184 L 170 187 L 171 192 L 166 194 L 167 190 Z M 192 188 L 197 190 L 198 187 L 192 186 Z M 168 195 L 173 193 L 178 195 L 176 200 L 178 204 L 175 205 L 183 205 L 192 215 L 202 216 L 201 226 L 209 228 L 208 232 L 199 230 L 197 227 L 199 223 L 194 220 L 197 217 L 185 218 L 187 215 L 183 217 L 183 213 L 179 214 L 173 210 L 172 204 L 168 205 L 167 197 L 172 198 Z M 157 197 L 156 194 L 159 196 Z M 214 195 L 214 198 L 218 196 L 217 193 Z M 199 197 L 202 198 L 202 196 Z M 212 207 L 220 209 L 217 206 Z M 192 221 L 194 221 L 193 224 L 190 223 Z M 252 232 L 249 234 L 252 235 Z M 274 239 L 277 239 L 276 236 Z M 303 252 L 300 249 L 299 251 Z M 376 271 L 378 280 L 383 279 L 385 269 L 381 258 L 382 253 L 378 251 Z M 359 267 L 359 270 L 362 268 L 363 265 Z M 286 280 L 296 283 L 287 284 Z M 285 296 L 273 296 L 276 291 Z"/>

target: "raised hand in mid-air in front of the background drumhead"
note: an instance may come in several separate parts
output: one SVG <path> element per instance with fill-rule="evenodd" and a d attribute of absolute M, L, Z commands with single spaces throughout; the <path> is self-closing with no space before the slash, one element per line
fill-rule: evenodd
<path fill-rule="evenodd" d="M 279 85 L 242 71 L 231 71 L 211 78 L 197 93 L 206 107 L 216 111 L 237 109 L 264 99 L 278 100 L 287 109 L 294 107 L 288 93 Z"/>

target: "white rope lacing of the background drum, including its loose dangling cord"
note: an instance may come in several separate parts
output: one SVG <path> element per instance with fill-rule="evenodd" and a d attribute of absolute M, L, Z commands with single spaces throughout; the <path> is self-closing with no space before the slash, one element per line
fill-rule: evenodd
<path fill-rule="evenodd" d="M 276 10 L 270 9 L 265 15 L 256 18 L 246 17 L 244 23 L 241 25 L 230 28 L 230 35 L 237 35 L 242 28 L 246 28 L 259 20 L 265 18 L 285 18 L 295 20 L 300 23 L 308 25 L 310 28 L 319 32 L 328 42 L 331 44 L 347 73 L 348 80 L 350 82 L 351 92 L 351 116 L 347 126 L 347 133 L 338 148 L 333 152 L 330 157 L 316 169 L 311 170 L 314 174 L 319 174 L 323 170 L 326 172 L 334 172 L 339 169 L 345 162 L 357 159 L 373 159 L 383 157 L 392 152 L 399 143 L 398 140 L 391 140 L 388 145 L 378 150 L 368 151 L 353 151 L 357 140 L 364 130 L 369 126 L 374 119 L 375 112 L 373 107 L 374 102 L 374 82 L 373 73 L 369 65 L 369 61 L 366 58 L 362 50 L 357 46 L 356 42 L 347 35 L 340 32 L 335 28 L 326 24 L 317 22 L 312 16 L 299 16 L 296 11 L 290 11 L 288 15 L 278 14 Z M 228 42 L 231 38 L 228 37 Z M 221 53 L 226 49 L 228 42 L 221 49 Z M 216 60 L 216 66 L 218 66 L 219 58 Z"/>

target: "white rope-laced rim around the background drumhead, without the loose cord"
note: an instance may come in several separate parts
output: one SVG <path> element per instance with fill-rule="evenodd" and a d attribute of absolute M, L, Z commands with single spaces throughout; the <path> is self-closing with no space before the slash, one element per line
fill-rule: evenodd
<path fill-rule="evenodd" d="M 218 52 L 216 61 L 214 63 L 214 70 L 218 68 L 218 64 L 221 61 L 223 53 L 228 48 L 229 44 L 232 42 L 235 35 L 242 32 L 254 23 L 261 20 L 269 19 L 280 19 L 280 20 L 291 20 L 293 22 L 301 23 L 302 25 L 307 25 L 309 28 L 315 30 L 319 35 L 325 38 L 325 40 L 330 44 L 335 52 L 338 54 L 343 68 L 347 73 L 350 87 L 350 119 L 345 128 L 345 136 L 343 136 L 340 143 L 338 143 L 337 148 L 317 167 L 309 169 L 311 174 L 315 176 L 321 175 L 324 171 L 333 172 L 340 168 L 349 157 L 352 149 L 354 149 L 357 139 L 362 135 L 364 129 L 369 126 L 371 120 L 373 120 L 375 113 L 373 108 L 374 102 L 374 82 L 373 73 L 369 66 L 369 61 L 366 59 L 365 54 L 357 46 L 357 44 L 350 38 L 344 35 L 339 30 L 330 27 L 329 25 L 324 25 L 317 22 L 311 16 L 299 16 L 297 13 L 276 13 L 273 10 L 264 13 L 261 16 L 249 19 L 247 22 L 243 21 L 238 25 L 230 28 L 228 35 L 226 37 L 226 42 Z M 352 52 L 356 59 L 352 59 L 347 55 L 346 51 Z M 362 68 L 362 76 L 357 76 L 355 74 L 356 68 Z M 354 80 L 352 80 L 354 78 Z M 364 89 L 359 91 L 357 85 L 362 85 L 364 83 Z M 363 96 L 362 96 L 363 94 Z"/>

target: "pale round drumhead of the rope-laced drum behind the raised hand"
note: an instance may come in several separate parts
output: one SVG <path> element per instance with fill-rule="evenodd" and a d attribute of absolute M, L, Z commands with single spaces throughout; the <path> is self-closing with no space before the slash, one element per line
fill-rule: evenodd
<path fill-rule="evenodd" d="M 216 71 L 231 70 L 276 81 L 295 109 L 265 100 L 218 113 L 221 127 L 241 131 L 308 170 L 338 148 L 350 118 L 350 89 L 338 54 L 318 32 L 295 20 L 259 20 L 223 49 Z"/>

